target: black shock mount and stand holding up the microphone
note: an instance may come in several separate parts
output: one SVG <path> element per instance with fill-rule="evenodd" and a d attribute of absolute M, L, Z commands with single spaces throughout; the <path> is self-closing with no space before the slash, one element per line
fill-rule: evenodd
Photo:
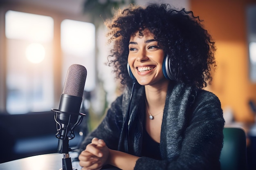
<path fill-rule="evenodd" d="M 62 124 L 59 119 L 59 113 L 63 113 L 63 112 L 57 109 L 52 109 L 52 111 L 55 112 L 54 119 L 58 127 L 57 133 L 55 135 L 58 138 L 58 153 L 63 154 L 62 168 L 60 170 L 77 170 L 72 167 L 72 161 L 69 155 L 69 151 L 71 151 L 72 149 L 69 148 L 69 140 L 75 137 L 74 128 L 81 124 L 83 120 L 83 116 L 86 116 L 86 115 L 83 113 L 79 113 L 80 118 L 76 121 L 76 123 L 70 124 L 70 117 L 71 117 L 71 114 L 70 114 L 68 124 Z"/>

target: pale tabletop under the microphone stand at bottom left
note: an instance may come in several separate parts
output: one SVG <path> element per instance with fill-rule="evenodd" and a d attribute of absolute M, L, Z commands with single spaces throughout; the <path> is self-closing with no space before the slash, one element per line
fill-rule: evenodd
<path fill-rule="evenodd" d="M 76 152 L 70 152 L 69 154 L 72 160 L 72 167 L 81 170 L 79 161 L 74 161 L 74 158 L 76 158 L 78 154 Z M 17 159 L 0 163 L 0 170 L 60 170 L 62 169 L 62 157 L 63 155 L 60 153 L 52 153 Z M 108 167 L 103 168 L 102 170 L 120 169 L 116 167 Z"/>

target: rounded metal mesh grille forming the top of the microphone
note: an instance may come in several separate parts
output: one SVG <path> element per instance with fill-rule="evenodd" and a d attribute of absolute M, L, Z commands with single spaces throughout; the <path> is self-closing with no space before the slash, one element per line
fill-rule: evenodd
<path fill-rule="evenodd" d="M 86 75 L 87 71 L 84 66 L 72 64 L 67 70 L 62 94 L 83 97 Z"/>

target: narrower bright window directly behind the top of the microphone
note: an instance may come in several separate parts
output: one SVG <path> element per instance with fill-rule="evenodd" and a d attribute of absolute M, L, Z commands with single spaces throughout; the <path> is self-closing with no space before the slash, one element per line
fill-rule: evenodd
<path fill-rule="evenodd" d="M 94 24 L 63 20 L 61 22 L 61 49 L 63 85 L 68 67 L 72 64 L 81 64 L 87 70 L 85 91 L 92 91 L 96 83 Z"/>

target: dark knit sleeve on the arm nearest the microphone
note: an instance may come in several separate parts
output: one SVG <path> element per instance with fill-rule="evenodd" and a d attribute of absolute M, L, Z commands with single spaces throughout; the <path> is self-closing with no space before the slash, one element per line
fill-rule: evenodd
<path fill-rule="evenodd" d="M 90 132 L 83 140 L 79 152 L 85 150 L 86 146 L 91 143 L 94 137 L 103 139 L 108 148 L 117 150 L 121 127 L 123 123 L 123 116 L 121 111 L 122 96 L 111 104 L 106 116 L 101 121 L 99 126 Z"/>

